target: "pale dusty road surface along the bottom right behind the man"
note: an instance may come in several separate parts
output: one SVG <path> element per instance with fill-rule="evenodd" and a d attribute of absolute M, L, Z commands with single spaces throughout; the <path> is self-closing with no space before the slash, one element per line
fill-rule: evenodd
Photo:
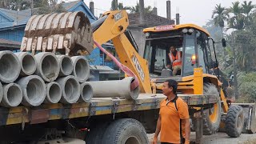
<path fill-rule="evenodd" d="M 150 143 L 154 134 L 148 134 Z M 195 140 L 195 133 L 191 133 L 190 141 Z M 203 144 L 256 144 L 256 134 L 242 134 L 239 138 L 230 138 L 226 133 L 203 136 Z M 160 143 L 159 143 L 160 144 Z"/>

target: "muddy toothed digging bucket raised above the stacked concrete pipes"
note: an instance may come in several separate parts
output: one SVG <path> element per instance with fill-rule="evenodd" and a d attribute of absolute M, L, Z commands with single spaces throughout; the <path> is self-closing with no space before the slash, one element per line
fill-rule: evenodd
<path fill-rule="evenodd" d="M 59 52 L 75 55 L 94 50 L 90 21 L 82 12 L 32 16 L 26 24 L 21 51 Z"/>

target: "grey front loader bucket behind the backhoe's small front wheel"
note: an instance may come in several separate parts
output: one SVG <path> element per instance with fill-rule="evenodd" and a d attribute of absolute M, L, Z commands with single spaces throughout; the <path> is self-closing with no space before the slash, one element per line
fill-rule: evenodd
<path fill-rule="evenodd" d="M 256 133 L 256 104 L 255 103 L 232 103 L 232 105 L 242 106 L 244 115 L 244 125 L 242 129 L 243 134 Z M 222 122 L 220 124 L 220 132 L 226 132 L 225 130 L 225 118 L 226 115 L 222 115 Z"/>

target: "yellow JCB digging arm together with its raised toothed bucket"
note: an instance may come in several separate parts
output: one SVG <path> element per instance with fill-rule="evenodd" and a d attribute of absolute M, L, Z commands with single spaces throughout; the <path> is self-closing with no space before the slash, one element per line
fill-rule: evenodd
<path fill-rule="evenodd" d="M 102 45 L 112 40 L 120 62 L 137 76 L 140 91 L 152 93 L 148 63 L 126 37 L 128 25 L 125 10 L 106 12 L 92 26 L 82 12 L 37 15 L 27 22 L 21 51 L 90 54 L 96 48 L 94 41 Z"/>

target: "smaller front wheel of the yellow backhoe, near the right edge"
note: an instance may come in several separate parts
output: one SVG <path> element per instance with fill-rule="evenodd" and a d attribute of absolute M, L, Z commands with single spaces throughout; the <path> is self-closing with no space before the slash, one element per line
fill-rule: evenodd
<path fill-rule="evenodd" d="M 243 123 L 244 114 L 242 106 L 230 106 L 225 120 L 226 134 L 230 137 L 238 138 L 242 133 Z"/>

